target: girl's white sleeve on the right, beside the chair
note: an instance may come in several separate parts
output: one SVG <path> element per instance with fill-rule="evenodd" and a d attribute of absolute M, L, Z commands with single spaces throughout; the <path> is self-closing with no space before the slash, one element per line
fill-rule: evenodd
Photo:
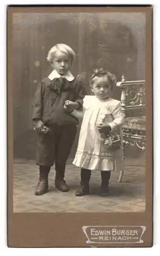
<path fill-rule="evenodd" d="M 121 103 L 114 108 L 112 112 L 112 116 L 114 118 L 113 122 L 109 123 L 112 131 L 114 131 L 117 127 L 120 127 L 124 122 L 124 114 L 122 112 Z"/>

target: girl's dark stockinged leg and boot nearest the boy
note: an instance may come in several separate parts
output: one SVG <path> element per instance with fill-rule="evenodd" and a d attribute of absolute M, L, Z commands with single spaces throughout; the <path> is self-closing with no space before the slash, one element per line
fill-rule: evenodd
<path fill-rule="evenodd" d="M 89 194 L 89 181 L 91 177 L 91 170 L 81 169 L 81 187 L 76 191 L 76 197 L 83 197 Z"/>

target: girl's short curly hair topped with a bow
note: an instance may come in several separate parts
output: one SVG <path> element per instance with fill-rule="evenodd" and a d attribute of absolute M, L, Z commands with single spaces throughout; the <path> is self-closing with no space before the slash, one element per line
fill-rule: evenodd
<path fill-rule="evenodd" d="M 93 84 L 94 82 L 94 77 L 106 77 L 111 82 L 111 89 L 113 89 L 113 86 L 115 86 L 117 82 L 116 76 L 106 70 L 103 70 L 103 68 L 94 70 L 93 74 L 90 77 L 91 84 Z"/>

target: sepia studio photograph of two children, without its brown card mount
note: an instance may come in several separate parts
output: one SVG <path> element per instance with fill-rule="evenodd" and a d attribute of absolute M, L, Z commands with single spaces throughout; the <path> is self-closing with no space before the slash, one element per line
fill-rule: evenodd
<path fill-rule="evenodd" d="M 15 9 L 13 212 L 145 211 L 145 47 L 143 11 Z"/>

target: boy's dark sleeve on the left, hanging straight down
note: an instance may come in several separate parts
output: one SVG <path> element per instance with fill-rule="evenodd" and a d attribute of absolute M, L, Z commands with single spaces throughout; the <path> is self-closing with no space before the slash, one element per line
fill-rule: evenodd
<path fill-rule="evenodd" d="M 33 121 L 37 121 L 42 118 L 43 94 L 44 94 L 44 85 L 43 85 L 43 82 L 40 82 L 38 84 L 38 87 L 33 99 L 33 115 L 32 115 Z"/>

